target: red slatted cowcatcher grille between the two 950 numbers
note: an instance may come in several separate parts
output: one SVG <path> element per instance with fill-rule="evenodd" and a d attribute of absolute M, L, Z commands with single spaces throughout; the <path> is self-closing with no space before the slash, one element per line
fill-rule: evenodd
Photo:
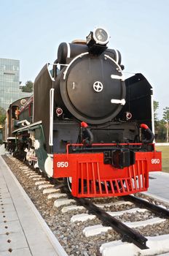
<path fill-rule="evenodd" d="M 135 165 L 125 167 L 122 178 L 113 178 L 113 173 L 111 178 L 101 177 L 99 162 L 78 162 L 76 196 L 107 197 L 145 191 L 149 187 L 148 174 L 146 160 L 137 160 Z"/>

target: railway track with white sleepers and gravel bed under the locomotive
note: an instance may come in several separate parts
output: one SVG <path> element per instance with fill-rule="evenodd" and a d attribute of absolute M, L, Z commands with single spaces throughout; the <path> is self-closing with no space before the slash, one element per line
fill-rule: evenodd
<path fill-rule="evenodd" d="M 28 195 L 34 203 L 37 197 L 43 197 L 42 205 L 37 203 L 36 207 L 68 255 L 109 256 L 116 250 L 120 255 L 119 248 L 124 249 L 125 246 L 130 247 L 127 249 L 128 255 L 160 255 L 169 252 L 169 245 L 166 246 L 169 241 L 169 206 L 157 206 L 133 196 L 125 196 L 120 200 L 74 198 L 62 189 L 62 184 L 51 184 L 51 181 L 23 165 L 23 162 L 10 156 L 5 158 L 9 167 L 13 163 L 12 171 L 20 183 L 21 176 L 27 180 L 25 190 L 33 186 Z M 154 249 L 158 241 L 163 248 L 158 246 Z"/>

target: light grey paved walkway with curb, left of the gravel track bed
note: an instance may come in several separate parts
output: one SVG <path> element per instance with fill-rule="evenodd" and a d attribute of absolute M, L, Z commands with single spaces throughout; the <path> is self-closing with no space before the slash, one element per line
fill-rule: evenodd
<path fill-rule="evenodd" d="M 0 146 L 2 153 L 2 148 Z M 19 184 L 20 185 L 20 184 Z M 0 156 L 0 255 L 66 255 Z"/>

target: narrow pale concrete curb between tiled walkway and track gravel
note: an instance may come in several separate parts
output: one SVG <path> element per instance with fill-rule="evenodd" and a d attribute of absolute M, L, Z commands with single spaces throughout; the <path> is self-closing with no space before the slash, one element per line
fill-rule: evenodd
<path fill-rule="evenodd" d="M 63 246 L 61 246 L 61 244 L 59 243 L 58 239 L 52 233 L 52 231 L 50 230 L 50 227 L 48 227 L 47 223 L 44 221 L 44 219 L 42 218 L 41 214 L 39 214 L 39 211 L 36 209 L 36 206 L 34 206 L 34 203 L 32 203 L 30 197 L 28 197 L 28 195 L 25 193 L 25 190 L 20 185 L 19 181 L 17 181 L 17 178 L 14 176 L 14 174 L 9 169 L 9 167 L 7 166 L 6 162 L 4 161 L 4 159 L 2 157 L 1 157 L 1 160 L 4 162 L 4 165 L 6 165 L 7 170 L 9 171 L 10 175 L 12 176 L 12 178 L 15 181 L 15 183 L 17 184 L 17 187 L 20 189 L 20 192 L 22 193 L 22 195 L 25 198 L 26 202 L 31 207 L 32 211 L 34 212 L 36 218 L 38 219 L 40 225 L 42 226 L 42 229 L 47 234 L 47 237 L 49 238 L 50 243 L 55 248 L 55 251 L 58 253 L 59 256 L 68 256 L 66 251 L 63 249 Z"/>

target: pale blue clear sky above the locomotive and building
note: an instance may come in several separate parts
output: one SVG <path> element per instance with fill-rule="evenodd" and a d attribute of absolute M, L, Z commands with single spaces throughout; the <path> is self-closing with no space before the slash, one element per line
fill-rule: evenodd
<path fill-rule="evenodd" d="M 128 72 L 141 72 L 154 100 L 169 107 L 169 0 L 0 0 L 0 58 L 20 60 L 20 81 L 34 82 L 57 59 L 60 42 L 85 39 L 95 27 L 109 31 L 109 48 Z"/>

